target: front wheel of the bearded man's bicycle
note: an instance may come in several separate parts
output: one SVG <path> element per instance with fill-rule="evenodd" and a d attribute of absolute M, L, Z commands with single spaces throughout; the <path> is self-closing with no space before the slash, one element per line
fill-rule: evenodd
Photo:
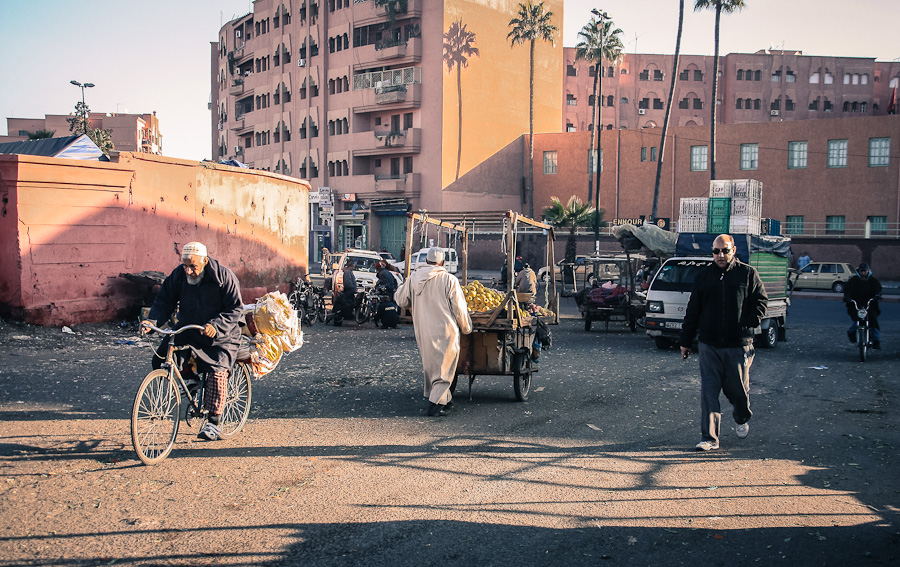
<path fill-rule="evenodd" d="M 145 465 L 155 465 L 172 452 L 180 409 L 181 395 L 169 373 L 147 374 L 131 409 L 131 444 Z"/>

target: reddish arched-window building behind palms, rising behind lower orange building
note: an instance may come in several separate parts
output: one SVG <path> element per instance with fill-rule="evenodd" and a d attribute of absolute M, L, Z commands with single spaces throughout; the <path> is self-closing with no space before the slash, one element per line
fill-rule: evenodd
<path fill-rule="evenodd" d="M 563 130 L 588 131 L 594 69 L 565 48 Z M 606 129 L 661 127 L 674 55 L 625 54 L 601 68 L 601 123 Z M 709 124 L 713 57 L 682 55 L 670 126 Z M 722 124 L 881 116 L 900 86 L 900 62 L 760 50 L 719 58 Z"/>

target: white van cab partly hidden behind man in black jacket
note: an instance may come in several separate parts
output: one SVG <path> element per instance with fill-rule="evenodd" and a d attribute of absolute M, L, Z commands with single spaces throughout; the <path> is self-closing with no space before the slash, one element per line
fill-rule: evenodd
<path fill-rule="evenodd" d="M 712 263 L 709 256 L 669 258 L 656 272 L 647 288 L 645 310 L 647 334 L 656 341 L 657 348 L 678 344 L 694 278 Z"/>

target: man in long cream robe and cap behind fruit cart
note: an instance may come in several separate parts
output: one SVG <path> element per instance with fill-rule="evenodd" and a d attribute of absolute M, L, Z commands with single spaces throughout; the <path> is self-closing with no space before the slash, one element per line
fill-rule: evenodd
<path fill-rule="evenodd" d="M 444 269 L 443 250 L 430 248 L 425 262 L 400 284 L 394 300 L 412 311 L 428 415 L 436 417 L 452 409 L 450 386 L 459 362 L 460 333 L 472 332 L 472 318 L 459 280 Z"/>

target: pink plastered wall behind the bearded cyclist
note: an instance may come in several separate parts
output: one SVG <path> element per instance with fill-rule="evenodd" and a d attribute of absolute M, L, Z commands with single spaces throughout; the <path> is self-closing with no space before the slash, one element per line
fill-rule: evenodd
<path fill-rule="evenodd" d="M 306 272 L 309 185 L 267 172 L 122 153 L 113 163 L 0 156 L 0 312 L 41 325 L 133 312 L 146 288 L 205 242 L 245 302 Z"/>

